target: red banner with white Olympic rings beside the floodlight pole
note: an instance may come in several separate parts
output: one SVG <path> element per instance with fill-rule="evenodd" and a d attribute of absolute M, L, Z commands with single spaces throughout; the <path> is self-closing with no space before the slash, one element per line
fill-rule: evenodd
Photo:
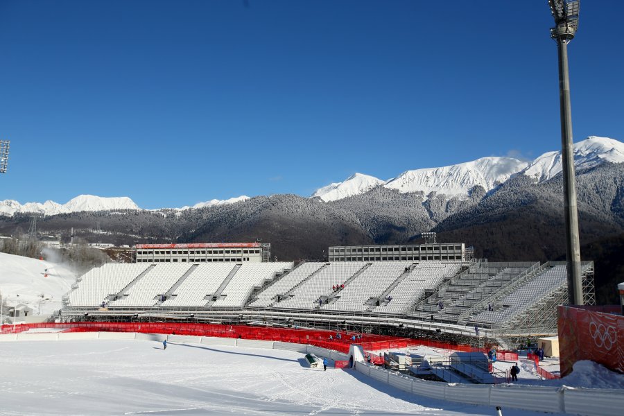
<path fill-rule="evenodd" d="M 591 360 L 624 374 L 624 316 L 559 306 L 561 376 Z"/>

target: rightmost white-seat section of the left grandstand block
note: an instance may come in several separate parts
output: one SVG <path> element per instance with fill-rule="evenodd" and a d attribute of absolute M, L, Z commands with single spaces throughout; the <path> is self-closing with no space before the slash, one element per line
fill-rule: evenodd
<path fill-rule="evenodd" d="M 275 273 L 293 268 L 293 262 L 279 261 L 275 263 L 243 263 L 223 289 L 223 298 L 218 299 L 214 307 L 245 306 L 254 287 L 262 286 L 265 281 L 275 277 Z"/>

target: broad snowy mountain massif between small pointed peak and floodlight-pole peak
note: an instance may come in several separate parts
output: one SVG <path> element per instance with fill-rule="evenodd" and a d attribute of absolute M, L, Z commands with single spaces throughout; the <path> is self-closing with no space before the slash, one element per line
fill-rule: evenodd
<path fill-rule="evenodd" d="M 508 180 L 511 175 L 526 168 L 527 162 L 512 157 L 482 157 L 442 168 L 424 168 L 401 173 L 384 186 L 401 193 L 431 192 L 447 196 L 465 196 L 480 185 L 486 191 Z"/>

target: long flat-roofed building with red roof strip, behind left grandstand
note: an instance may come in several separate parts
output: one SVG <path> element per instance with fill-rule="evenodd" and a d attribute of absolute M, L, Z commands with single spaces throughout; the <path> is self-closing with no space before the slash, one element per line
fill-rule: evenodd
<path fill-rule="evenodd" d="M 270 243 L 137 244 L 137 263 L 270 261 Z"/>

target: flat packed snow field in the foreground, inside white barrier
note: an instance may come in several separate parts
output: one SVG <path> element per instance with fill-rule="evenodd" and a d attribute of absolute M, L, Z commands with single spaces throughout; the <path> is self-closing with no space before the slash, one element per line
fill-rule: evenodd
<path fill-rule="evenodd" d="M 494 415 L 304 355 L 155 341 L 0 343 L 3 415 Z M 535 416 L 505 408 L 505 416 Z"/>

